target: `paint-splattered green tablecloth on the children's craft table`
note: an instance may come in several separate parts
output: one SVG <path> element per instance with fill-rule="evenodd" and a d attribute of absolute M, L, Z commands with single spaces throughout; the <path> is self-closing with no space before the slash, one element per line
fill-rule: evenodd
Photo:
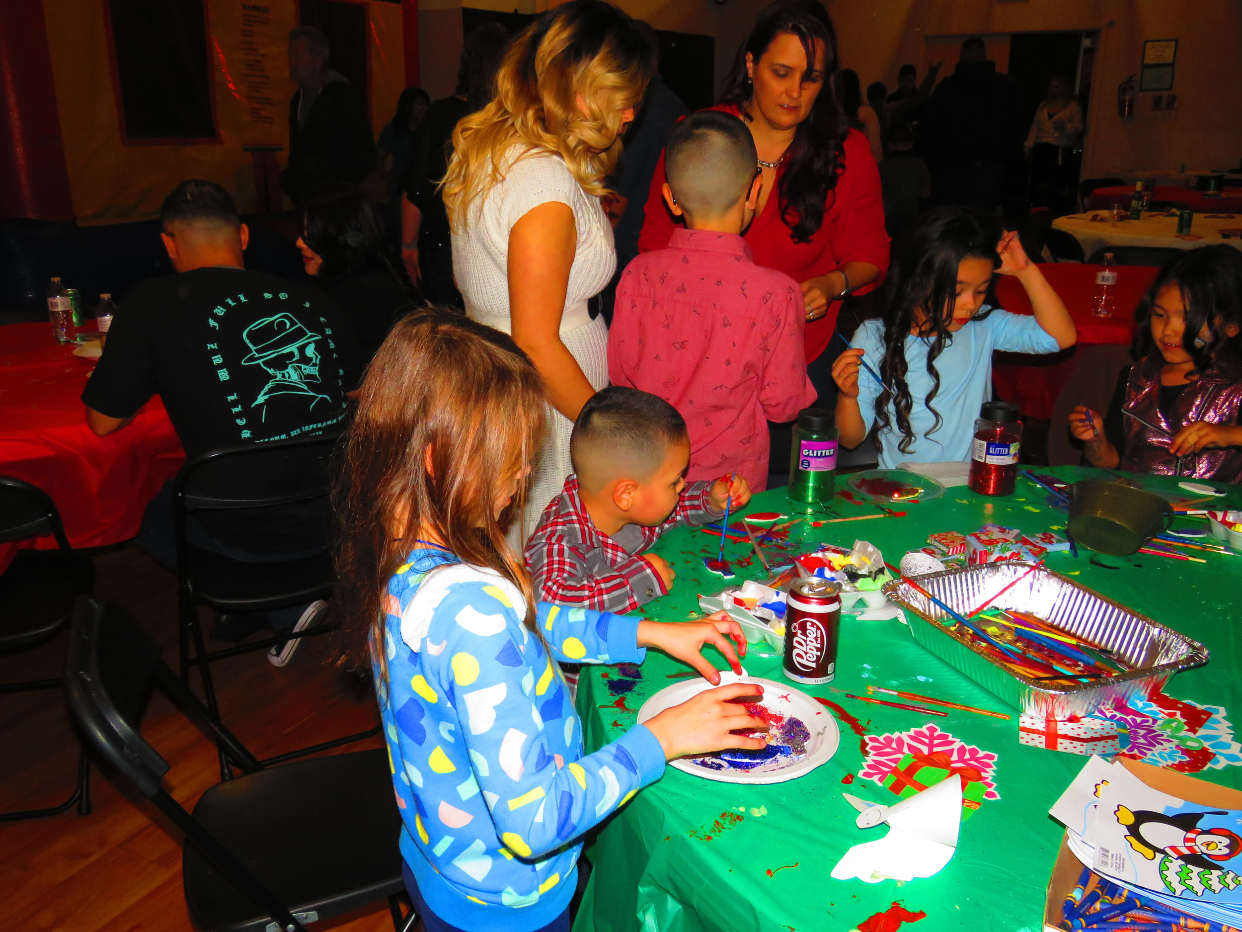
<path fill-rule="evenodd" d="M 1049 470 L 1063 478 L 1095 475 L 1090 470 Z M 1174 480 L 1145 477 L 1151 488 L 1176 490 Z M 838 478 L 838 488 L 842 482 Z M 1185 495 L 1185 493 L 1184 493 Z M 1242 507 L 1242 490 L 1227 500 Z M 837 498 L 841 516 L 869 513 L 863 506 Z M 791 512 L 785 490 L 755 496 L 745 509 Z M 1045 503 L 1045 493 L 1026 480 L 1010 497 L 990 498 L 968 488 L 950 488 L 940 500 L 907 506 L 908 517 L 882 518 L 795 528 L 814 549 L 818 542 L 850 546 L 871 541 L 891 563 L 922 547 L 929 533 L 975 531 L 1000 523 L 1025 532 L 1064 524 L 1064 516 Z M 796 512 L 792 512 L 796 514 Z M 1179 524 L 1190 519 L 1179 521 Z M 1200 523 L 1202 521 L 1200 519 Z M 677 570 L 673 592 L 643 608 L 661 621 L 684 620 L 697 613 L 698 594 L 715 594 L 740 585 L 748 575 L 761 579 L 755 562 L 725 583 L 708 574 L 702 557 L 717 544 L 699 531 L 678 528 L 655 548 Z M 725 555 L 743 558 L 749 546 L 728 543 Z M 1136 554 L 1099 558 L 1079 548 L 1049 554 L 1049 568 L 1109 595 L 1150 618 L 1203 642 L 1211 651 L 1206 667 L 1177 675 L 1169 693 L 1195 702 L 1222 705 L 1238 712 L 1242 686 L 1238 657 L 1242 645 L 1233 614 L 1242 580 L 1242 555 L 1217 554 L 1208 562 L 1187 563 Z M 754 649 L 751 649 L 754 651 Z M 769 654 L 771 651 L 768 651 Z M 718 666 L 725 666 L 715 655 Z M 781 680 L 780 657 L 745 660 L 754 676 Z M 661 688 L 678 682 L 669 675 L 684 671 L 679 662 L 655 651 L 642 665 L 642 678 L 628 695 L 614 695 L 610 667 L 585 669 L 579 683 L 578 708 L 587 751 L 616 739 L 633 727 L 637 710 Z M 858 621 L 842 616 L 837 676 L 832 686 L 864 693 L 867 683 L 908 690 L 1012 713 L 1009 721 L 950 710 L 946 718 L 857 702 L 828 686 L 804 687 L 812 696 L 830 697 L 857 716 L 867 733 L 900 732 L 934 722 L 969 744 L 999 756 L 999 800 L 985 800 L 961 824 L 956 854 L 933 877 L 907 884 L 859 880 L 838 881 L 828 875 L 852 845 L 882 838 L 887 829 L 863 831 L 857 813 L 842 790 L 874 803 L 892 804 L 897 797 L 862 778 L 861 738 L 841 724 L 836 756 L 811 774 L 769 785 L 715 783 L 673 768 L 638 793 L 599 833 L 589 849 L 594 864 L 590 885 L 575 922 L 575 932 L 699 932 L 700 930 L 852 930 L 894 901 L 923 910 L 927 918 L 909 928 L 917 932 L 981 930 L 1020 932 L 1042 928 L 1045 890 L 1062 829 L 1048 808 L 1082 768 L 1086 758 L 1018 744 L 1017 713 L 953 667 L 918 646 L 899 621 Z M 892 697 L 887 697 L 892 698 Z M 1235 708 L 1237 707 L 1237 708 Z M 1242 788 L 1242 767 L 1196 774 Z M 846 785 L 850 784 L 850 785 Z"/>

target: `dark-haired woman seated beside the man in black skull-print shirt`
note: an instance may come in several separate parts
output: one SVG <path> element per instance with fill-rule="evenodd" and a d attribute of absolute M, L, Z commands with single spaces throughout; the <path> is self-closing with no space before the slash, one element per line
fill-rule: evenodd
<path fill-rule="evenodd" d="M 307 275 L 340 306 L 368 360 L 401 313 L 421 303 L 389 255 L 379 211 L 354 185 L 322 188 L 307 199 L 298 249 Z"/>

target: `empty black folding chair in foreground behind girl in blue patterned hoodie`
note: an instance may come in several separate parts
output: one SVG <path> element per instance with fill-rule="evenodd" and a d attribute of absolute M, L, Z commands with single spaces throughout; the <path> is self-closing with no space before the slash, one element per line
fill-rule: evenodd
<path fill-rule="evenodd" d="M 266 768 L 160 659 L 160 645 L 116 604 L 73 608 L 65 690 L 87 741 L 185 835 L 181 880 L 207 932 L 306 932 L 388 898 L 392 926 L 417 920 L 400 901 L 401 816 L 385 751 Z M 166 789 L 169 764 L 139 731 L 159 687 L 246 770 L 211 787 L 188 813 Z M 274 923 L 274 925 L 271 925 Z"/>

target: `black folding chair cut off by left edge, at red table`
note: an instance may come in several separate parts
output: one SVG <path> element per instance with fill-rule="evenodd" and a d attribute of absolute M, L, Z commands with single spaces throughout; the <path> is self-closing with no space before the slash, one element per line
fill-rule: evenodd
<path fill-rule="evenodd" d="M 65 536 L 56 503 L 20 478 L 0 476 L 0 543 L 29 537 L 56 538 L 55 551 L 21 549 L 0 575 L 0 654 L 29 650 L 55 637 L 66 626 L 73 599 L 94 588 L 94 563 L 75 553 Z M 0 693 L 58 690 L 57 680 L 0 683 Z M 0 823 L 60 815 L 73 805 L 91 814 L 91 758 L 78 756 L 77 787 L 60 805 L 0 813 Z"/>

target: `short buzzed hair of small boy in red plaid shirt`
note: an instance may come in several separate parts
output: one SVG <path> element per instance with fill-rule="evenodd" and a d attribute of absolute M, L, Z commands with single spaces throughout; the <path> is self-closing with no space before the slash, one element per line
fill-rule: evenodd
<path fill-rule="evenodd" d="M 615 478 L 646 480 L 669 445 L 686 439 L 686 421 L 668 401 L 611 385 L 582 405 L 569 452 L 579 485 L 597 491 Z"/>

